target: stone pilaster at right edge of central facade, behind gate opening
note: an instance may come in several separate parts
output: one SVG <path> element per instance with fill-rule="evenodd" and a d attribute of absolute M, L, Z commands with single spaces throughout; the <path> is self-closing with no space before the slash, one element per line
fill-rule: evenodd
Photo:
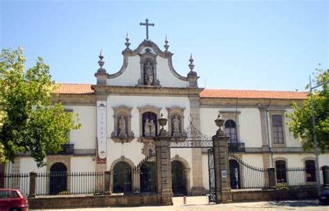
<path fill-rule="evenodd" d="M 189 97 L 190 114 L 193 117 L 193 123 L 196 129 L 200 130 L 200 98 Z M 192 195 L 203 195 L 206 190 L 203 187 L 203 174 L 202 174 L 202 151 L 201 148 L 192 148 L 192 180 L 193 187 L 191 190 Z"/>

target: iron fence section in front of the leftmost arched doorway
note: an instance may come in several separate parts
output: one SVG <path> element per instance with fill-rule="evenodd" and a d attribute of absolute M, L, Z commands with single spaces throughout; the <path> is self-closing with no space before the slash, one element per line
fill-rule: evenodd
<path fill-rule="evenodd" d="M 37 173 L 36 195 L 101 194 L 104 192 L 104 172 Z"/>

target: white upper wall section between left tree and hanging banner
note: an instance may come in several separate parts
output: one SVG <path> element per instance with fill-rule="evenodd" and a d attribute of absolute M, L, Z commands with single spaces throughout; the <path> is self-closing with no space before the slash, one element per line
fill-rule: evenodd
<path fill-rule="evenodd" d="M 96 106 L 66 106 L 78 113 L 81 128 L 69 134 L 69 143 L 74 149 L 95 149 L 96 147 Z"/>

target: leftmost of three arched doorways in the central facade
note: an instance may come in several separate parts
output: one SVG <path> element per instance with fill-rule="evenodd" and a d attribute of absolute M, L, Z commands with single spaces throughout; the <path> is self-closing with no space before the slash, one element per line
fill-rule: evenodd
<path fill-rule="evenodd" d="M 124 161 L 120 161 L 113 167 L 113 192 L 128 193 L 131 192 L 131 168 Z"/>

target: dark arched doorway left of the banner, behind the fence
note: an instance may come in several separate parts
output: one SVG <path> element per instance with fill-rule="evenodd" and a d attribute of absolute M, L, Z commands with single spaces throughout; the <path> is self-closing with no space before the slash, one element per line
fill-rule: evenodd
<path fill-rule="evenodd" d="M 63 163 L 51 165 L 49 186 L 49 194 L 67 191 L 67 167 Z"/>

